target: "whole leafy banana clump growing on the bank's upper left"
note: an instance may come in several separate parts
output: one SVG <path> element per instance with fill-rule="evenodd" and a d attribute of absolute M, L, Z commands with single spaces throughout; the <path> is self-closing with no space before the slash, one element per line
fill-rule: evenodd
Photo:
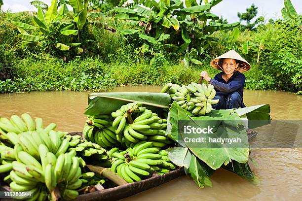
<path fill-rule="evenodd" d="M 86 23 L 88 0 L 70 0 L 69 3 L 74 8 L 73 15 L 68 13 L 68 7 L 64 0 L 60 1 L 59 8 L 57 0 L 52 0 L 48 8 L 39 1 L 32 3 L 38 7 L 38 13 L 33 16 L 32 24 L 12 22 L 20 32 L 19 37 L 22 39 L 22 45 L 30 48 L 35 47 L 33 50 L 37 52 L 42 50 L 58 56 L 65 56 L 66 54 L 55 50 L 55 48 L 61 51 L 72 49 L 73 52 L 69 55 L 82 54 L 83 46 L 80 47 L 79 45 L 84 40 L 80 41 L 80 31 L 83 30 Z M 40 5 L 46 9 L 46 12 Z"/>

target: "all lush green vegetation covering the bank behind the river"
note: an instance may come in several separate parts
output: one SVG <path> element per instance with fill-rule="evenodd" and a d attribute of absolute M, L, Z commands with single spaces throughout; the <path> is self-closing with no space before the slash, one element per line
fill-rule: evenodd
<path fill-rule="evenodd" d="M 33 15 L 1 12 L 0 91 L 188 84 L 201 70 L 217 74 L 209 62 L 230 49 L 252 65 L 245 88 L 301 91 L 301 15 L 291 1 L 266 23 L 254 4 L 227 23 L 211 12 L 221 1 L 36 0 Z"/>

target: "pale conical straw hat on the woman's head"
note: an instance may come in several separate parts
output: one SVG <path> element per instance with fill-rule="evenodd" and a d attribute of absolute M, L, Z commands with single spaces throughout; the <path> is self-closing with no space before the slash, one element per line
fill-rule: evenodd
<path fill-rule="evenodd" d="M 239 62 L 237 71 L 244 72 L 251 69 L 251 65 L 245 61 L 235 50 L 230 50 L 227 53 L 213 59 L 210 65 L 216 69 L 223 70 L 222 62 L 223 59 L 235 59 Z"/>

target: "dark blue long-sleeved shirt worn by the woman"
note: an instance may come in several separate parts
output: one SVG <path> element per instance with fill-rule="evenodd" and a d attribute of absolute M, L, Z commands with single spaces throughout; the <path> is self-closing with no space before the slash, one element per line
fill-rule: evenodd
<path fill-rule="evenodd" d="M 245 83 L 245 76 L 239 71 L 235 71 L 234 74 L 227 80 L 222 78 L 224 72 L 220 72 L 215 75 L 214 79 L 210 80 L 210 84 L 214 86 L 216 95 L 227 95 L 231 92 L 237 91 L 243 100 L 243 87 Z"/>

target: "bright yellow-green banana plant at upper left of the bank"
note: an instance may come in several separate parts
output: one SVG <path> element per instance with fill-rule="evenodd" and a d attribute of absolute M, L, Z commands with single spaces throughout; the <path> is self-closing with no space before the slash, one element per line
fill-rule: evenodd
<path fill-rule="evenodd" d="M 52 0 L 51 5 L 47 8 L 46 12 L 43 11 L 40 3 L 36 2 L 38 12 L 37 15 L 33 16 L 33 25 L 13 22 L 20 32 L 19 35 L 23 39 L 22 43 L 24 45 L 35 45 L 41 40 L 50 40 L 48 43 L 54 43 L 54 46 L 57 49 L 67 51 L 70 50 L 71 47 L 77 47 L 81 44 L 79 43 L 79 31 L 83 28 L 83 25 L 86 22 L 87 6 L 85 7 L 83 4 L 80 4 L 82 2 L 80 0 L 70 0 L 69 2 L 73 6 L 76 6 L 76 4 L 78 4 L 78 7 L 83 5 L 80 7 L 81 9 L 75 10 L 74 16 L 71 16 L 68 13 L 67 1 L 60 0 L 59 2 L 60 4 L 58 7 L 57 0 Z M 69 18 L 72 18 L 76 23 L 76 26 Z M 62 36 L 77 35 L 78 42 L 59 42 L 56 37 L 57 34 L 61 34 Z"/>

